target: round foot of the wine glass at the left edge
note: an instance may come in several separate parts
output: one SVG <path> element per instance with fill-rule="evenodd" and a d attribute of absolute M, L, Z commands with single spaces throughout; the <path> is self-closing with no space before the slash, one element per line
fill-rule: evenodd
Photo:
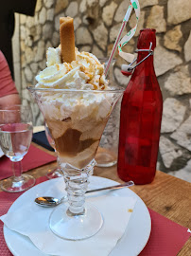
<path fill-rule="evenodd" d="M 28 174 L 20 177 L 9 177 L 1 181 L 1 189 L 4 192 L 24 192 L 35 184 L 35 178 Z"/>

